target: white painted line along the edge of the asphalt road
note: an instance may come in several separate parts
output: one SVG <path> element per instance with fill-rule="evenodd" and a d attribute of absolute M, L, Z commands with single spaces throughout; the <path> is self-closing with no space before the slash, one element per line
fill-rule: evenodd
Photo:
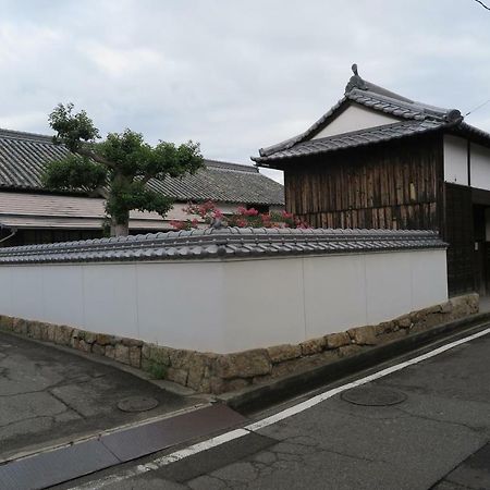
<path fill-rule="evenodd" d="M 490 328 L 481 330 L 478 333 L 474 333 L 473 335 L 465 336 L 464 339 L 460 339 L 457 341 L 451 342 L 446 345 L 442 345 L 441 347 L 434 348 L 433 351 L 430 351 L 426 354 L 414 357 L 413 359 L 406 360 L 406 362 L 397 364 L 395 366 L 391 366 L 387 369 L 382 369 L 381 371 L 366 376 L 365 378 L 358 379 L 351 383 L 343 384 L 342 387 L 338 387 L 332 390 L 320 393 L 309 400 L 306 400 L 305 402 L 298 403 L 297 405 L 294 405 L 292 407 L 285 408 L 284 411 L 277 413 L 274 415 L 271 415 L 270 417 L 267 417 L 262 420 L 258 420 L 256 422 L 249 424 L 248 426 L 245 426 L 243 429 L 235 429 L 230 432 L 222 433 L 215 438 L 208 439 L 203 442 L 198 442 L 197 444 L 191 445 L 183 450 L 175 451 L 174 453 L 171 453 L 166 456 L 154 460 L 144 465 L 135 466 L 135 467 L 130 468 L 125 471 L 122 471 L 118 475 L 110 475 L 106 478 L 101 478 L 101 479 L 95 480 L 95 481 L 89 481 L 88 483 L 84 483 L 78 487 L 72 487 L 70 490 L 98 490 L 103 487 L 107 487 L 108 485 L 113 485 L 119 481 L 126 480 L 126 479 L 135 477 L 137 475 L 142 475 L 144 473 L 161 468 L 162 466 L 167 466 L 171 463 L 175 463 L 177 461 L 184 460 L 185 457 L 201 453 L 211 448 L 216 448 L 218 445 L 225 444 L 226 442 L 230 442 L 234 439 L 242 438 L 244 436 L 247 436 L 250 432 L 256 432 L 257 430 L 260 430 L 272 424 L 277 424 L 278 421 L 284 420 L 285 418 L 292 417 L 293 415 L 297 415 L 308 408 L 311 408 L 315 405 L 318 405 L 319 403 L 321 403 L 328 399 L 331 399 L 332 396 L 335 396 L 339 393 L 342 393 L 343 391 L 351 390 L 352 388 L 360 387 L 360 385 L 369 383 L 376 379 L 384 378 L 385 376 L 391 375 L 392 372 L 401 371 L 402 369 L 405 369 L 408 366 L 413 366 L 414 364 L 418 364 L 418 363 L 421 363 L 422 360 L 430 359 L 431 357 L 442 354 L 443 352 L 446 352 L 451 348 L 457 347 L 461 344 L 465 344 L 465 343 L 470 342 L 480 336 L 487 335 L 488 333 L 490 333 Z"/>

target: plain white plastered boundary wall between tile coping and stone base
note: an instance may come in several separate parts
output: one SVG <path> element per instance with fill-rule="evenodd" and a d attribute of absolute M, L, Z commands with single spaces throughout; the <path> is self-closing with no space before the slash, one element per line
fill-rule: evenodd
<path fill-rule="evenodd" d="M 444 250 L 0 267 L 0 314 L 228 353 L 448 299 Z"/>

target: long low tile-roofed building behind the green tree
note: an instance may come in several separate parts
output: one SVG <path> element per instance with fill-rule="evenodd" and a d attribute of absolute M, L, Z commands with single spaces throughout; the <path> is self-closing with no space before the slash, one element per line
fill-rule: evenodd
<path fill-rule="evenodd" d="M 41 175 L 48 161 L 63 158 L 68 149 L 51 136 L 0 130 L 0 246 L 99 238 L 106 220 L 105 200 L 84 193 L 53 193 Z M 284 188 L 253 166 L 205 160 L 194 175 L 164 181 L 152 179 L 152 191 L 175 204 L 163 219 L 156 212 L 133 210 L 130 233 L 172 230 L 171 220 L 188 218 L 188 201 L 212 200 L 223 212 L 238 206 L 260 211 L 284 208 Z"/>

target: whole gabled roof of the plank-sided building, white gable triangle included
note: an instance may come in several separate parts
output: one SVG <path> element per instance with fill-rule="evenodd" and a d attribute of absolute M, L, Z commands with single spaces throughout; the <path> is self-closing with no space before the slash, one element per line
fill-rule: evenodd
<path fill-rule="evenodd" d="M 283 169 L 309 156 L 380 145 L 437 131 L 490 146 L 490 134 L 463 121 L 456 109 L 416 102 L 360 78 L 350 79 L 344 97 L 306 132 L 261 148 L 252 159 L 259 167 Z"/>

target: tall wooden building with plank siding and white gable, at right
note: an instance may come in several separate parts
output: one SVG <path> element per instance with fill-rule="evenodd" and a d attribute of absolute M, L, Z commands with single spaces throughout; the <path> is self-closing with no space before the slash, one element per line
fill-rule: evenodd
<path fill-rule="evenodd" d="M 353 71 L 334 107 L 253 160 L 284 171 L 286 210 L 311 225 L 434 230 L 450 294 L 490 293 L 490 134 Z"/>

